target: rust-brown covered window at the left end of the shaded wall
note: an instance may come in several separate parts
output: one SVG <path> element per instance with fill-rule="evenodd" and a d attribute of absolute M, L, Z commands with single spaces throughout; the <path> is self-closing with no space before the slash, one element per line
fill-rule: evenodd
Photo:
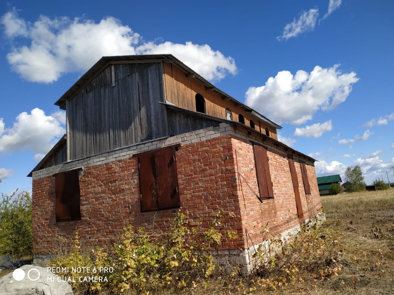
<path fill-rule="evenodd" d="M 55 175 L 56 221 L 81 218 L 78 171 Z"/>

